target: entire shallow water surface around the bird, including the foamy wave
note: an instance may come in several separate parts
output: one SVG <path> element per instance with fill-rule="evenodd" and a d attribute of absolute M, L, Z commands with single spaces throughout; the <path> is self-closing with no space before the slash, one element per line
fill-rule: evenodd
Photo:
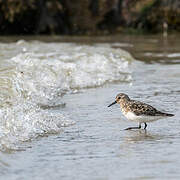
<path fill-rule="evenodd" d="M 178 37 L 1 43 L 0 179 L 179 179 Z M 119 92 L 175 116 L 124 131 Z"/>

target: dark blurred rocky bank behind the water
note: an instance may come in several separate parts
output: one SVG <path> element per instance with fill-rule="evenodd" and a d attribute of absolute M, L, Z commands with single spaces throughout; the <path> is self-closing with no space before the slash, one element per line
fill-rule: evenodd
<path fill-rule="evenodd" d="M 180 31 L 179 0 L 0 0 L 0 34 Z"/>

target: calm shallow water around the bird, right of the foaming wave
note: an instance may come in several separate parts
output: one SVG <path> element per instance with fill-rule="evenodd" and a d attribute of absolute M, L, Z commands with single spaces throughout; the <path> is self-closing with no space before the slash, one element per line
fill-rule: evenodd
<path fill-rule="evenodd" d="M 0 179 L 180 179 L 180 41 L 172 42 L 129 36 L 113 43 L 141 60 L 132 62 L 132 80 L 65 94 L 65 107 L 49 112 L 69 114 L 76 123 L 22 143 L 22 151 L 1 153 Z M 124 131 L 136 124 L 118 105 L 107 108 L 119 92 L 175 116 L 148 124 L 147 131 Z"/>

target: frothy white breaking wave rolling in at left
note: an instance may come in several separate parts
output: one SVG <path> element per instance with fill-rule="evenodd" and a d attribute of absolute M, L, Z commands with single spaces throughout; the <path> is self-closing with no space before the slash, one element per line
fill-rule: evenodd
<path fill-rule="evenodd" d="M 103 45 L 21 41 L 0 44 L 0 50 L 0 150 L 73 124 L 61 110 L 41 108 L 61 103 L 64 92 L 131 80 L 132 57 Z"/>

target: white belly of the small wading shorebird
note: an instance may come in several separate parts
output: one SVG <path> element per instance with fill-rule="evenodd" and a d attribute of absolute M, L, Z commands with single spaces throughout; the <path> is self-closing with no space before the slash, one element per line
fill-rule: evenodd
<path fill-rule="evenodd" d="M 136 122 L 140 122 L 140 123 L 143 123 L 143 122 L 152 122 L 152 121 L 157 121 L 158 119 L 165 118 L 163 116 L 146 116 L 146 115 L 137 116 L 133 112 L 128 112 L 128 113 L 126 113 L 124 115 L 125 115 L 125 117 L 128 120 L 136 121 Z"/>

